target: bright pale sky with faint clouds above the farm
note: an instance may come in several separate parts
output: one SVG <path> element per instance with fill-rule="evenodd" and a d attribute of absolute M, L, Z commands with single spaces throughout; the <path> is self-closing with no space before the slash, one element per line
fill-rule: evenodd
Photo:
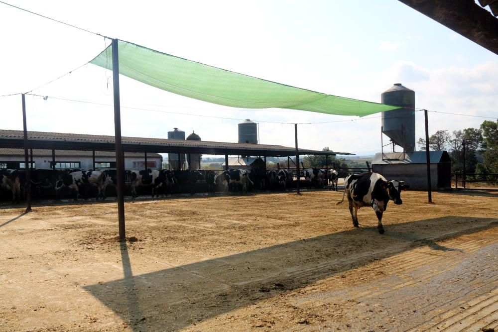
<path fill-rule="evenodd" d="M 102 35 L 223 69 L 326 94 L 380 102 L 394 83 L 415 91 L 429 133 L 498 117 L 497 55 L 397 0 L 34 1 L 11 4 Z M 112 73 L 92 64 L 109 39 L 0 3 L 0 95 L 26 96 L 28 130 L 114 135 Z M 69 73 L 48 85 L 45 83 Z M 44 85 L 44 86 L 42 86 Z M 41 88 L 38 88 L 42 86 Z M 359 118 L 281 109 L 228 108 L 120 77 L 122 134 L 166 138 L 178 127 L 236 142 L 239 120 L 259 122 L 262 144 L 371 155 L 380 114 Z M 142 109 L 142 110 L 136 110 Z M 148 111 L 146 111 L 148 110 Z M 150 111 L 152 110 L 152 111 Z M 22 130 L 20 96 L 0 98 L 0 129 Z M 187 115 L 189 114 L 189 115 Z M 342 121 L 348 120 L 348 121 Z M 416 112 L 416 139 L 424 136 Z"/>

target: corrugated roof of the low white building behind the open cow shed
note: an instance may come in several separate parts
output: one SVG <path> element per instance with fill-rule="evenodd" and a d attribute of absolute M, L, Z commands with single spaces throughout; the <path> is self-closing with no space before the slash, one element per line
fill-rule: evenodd
<path fill-rule="evenodd" d="M 28 151 L 28 153 L 30 153 Z M 56 156 L 63 157 L 92 157 L 92 151 L 80 150 L 55 150 Z M 24 156 L 24 149 L 0 148 L 0 158 L 2 156 Z M 33 156 L 52 157 L 52 150 L 33 149 Z M 96 157 L 116 157 L 114 151 L 95 151 Z M 144 154 L 139 152 L 124 152 L 125 157 L 143 158 Z M 147 152 L 147 158 L 162 158 L 158 153 Z"/>

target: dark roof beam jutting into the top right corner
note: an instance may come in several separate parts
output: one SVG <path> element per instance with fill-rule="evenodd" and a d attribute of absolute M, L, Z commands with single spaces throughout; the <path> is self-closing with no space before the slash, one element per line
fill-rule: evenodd
<path fill-rule="evenodd" d="M 498 54 L 498 19 L 474 0 L 399 0 Z"/>

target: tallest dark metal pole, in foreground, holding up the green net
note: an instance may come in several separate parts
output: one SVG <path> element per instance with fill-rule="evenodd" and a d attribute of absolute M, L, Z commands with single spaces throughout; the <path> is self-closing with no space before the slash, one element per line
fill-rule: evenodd
<path fill-rule="evenodd" d="M 118 173 L 117 179 L 117 199 L 118 199 L 118 221 L 120 228 L 120 241 L 124 241 L 124 158 L 123 146 L 121 143 L 121 105 L 120 105 L 120 65 L 118 52 L 118 39 L 113 39 L 113 90 L 114 90 L 114 135 L 116 141 L 116 168 Z"/>

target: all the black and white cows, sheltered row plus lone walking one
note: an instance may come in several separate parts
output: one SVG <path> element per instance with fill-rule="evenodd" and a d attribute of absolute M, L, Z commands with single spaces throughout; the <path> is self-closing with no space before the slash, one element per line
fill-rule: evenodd
<path fill-rule="evenodd" d="M 326 172 L 319 168 L 308 168 L 302 171 L 307 187 L 312 185 L 322 187 L 327 184 L 329 189 L 337 190 L 338 172 L 335 169 Z M 165 196 L 174 192 L 181 192 L 183 186 L 187 186 L 193 194 L 196 184 L 204 182 L 210 193 L 221 190 L 248 192 L 248 189 L 286 190 L 287 185 L 296 181 L 291 170 L 244 170 L 233 169 L 223 172 L 216 171 L 170 171 L 170 170 L 126 170 L 124 172 L 124 183 L 129 187 L 131 196 L 136 197 L 138 187 L 150 187 L 152 197 Z M 90 187 L 97 188 L 97 199 L 106 197 L 109 186 L 116 186 L 118 175 L 116 170 L 46 170 L 37 169 L 30 171 L 30 189 L 38 192 L 51 190 L 55 197 L 59 198 L 62 189 L 69 190 L 74 199 L 77 200 L 80 190 L 86 191 Z M 382 214 L 387 208 L 389 200 L 394 204 L 402 204 L 401 191 L 409 186 L 403 181 L 386 180 L 378 173 L 351 174 L 344 180 L 344 197 L 347 196 L 349 211 L 353 220 L 353 226 L 358 227 L 358 209 L 372 207 L 378 220 L 378 231 L 383 233 Z M 22 170 L 0 170 L 0 188 L 10 190 L 13 203 L 18 203 L 24 196 L 26 190 L 26 173 Z"/>

